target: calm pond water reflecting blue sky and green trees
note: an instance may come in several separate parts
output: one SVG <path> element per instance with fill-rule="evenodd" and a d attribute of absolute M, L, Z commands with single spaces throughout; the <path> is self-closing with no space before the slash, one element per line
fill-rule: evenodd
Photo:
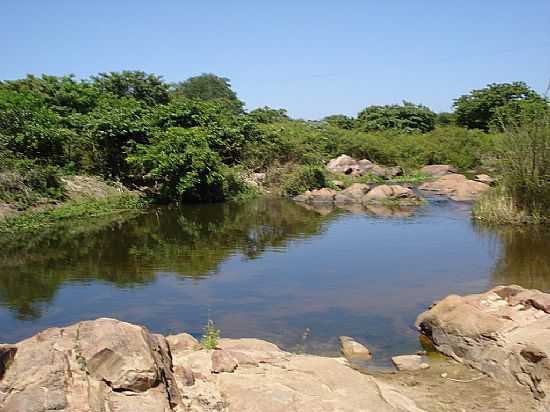
<path fill-rule="evenodd" d="M 108 316 L 160 333 L 335 355 L 366 342 L 380 364 L 418 349 L 434 300 L 494 284 L 550 291 L 550 233 L 472 223 L 469 206 L 312 210 L 285 200 L 158 208 L 0 239 L 0 342 Z"/>

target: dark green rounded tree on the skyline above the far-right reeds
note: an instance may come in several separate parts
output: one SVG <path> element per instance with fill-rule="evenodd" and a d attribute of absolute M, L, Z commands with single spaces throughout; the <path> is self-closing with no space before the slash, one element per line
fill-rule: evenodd
<path fill-rule="evenodd" d="M 501 119 L 501 108 L 519 101 L 547 104 L 545 100 L 523 82 L 493 83 L 483 89 L 472 90 L 454 102 L 456 122 L 469 129 L 488 131 Z M 506 111 L 506 109 L 504 109 Z M 510 109 L 513 110 L 513 109 Z"/>

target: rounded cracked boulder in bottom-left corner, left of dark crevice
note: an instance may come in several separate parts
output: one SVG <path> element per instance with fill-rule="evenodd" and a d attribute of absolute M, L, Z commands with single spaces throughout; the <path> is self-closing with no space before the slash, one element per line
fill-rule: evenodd
<path fill-rule="evenodd" d="M 174 410 L 181 397 L 165 346 L 114 319 L 48 329 L 16 345 L 0 410 Z"/>

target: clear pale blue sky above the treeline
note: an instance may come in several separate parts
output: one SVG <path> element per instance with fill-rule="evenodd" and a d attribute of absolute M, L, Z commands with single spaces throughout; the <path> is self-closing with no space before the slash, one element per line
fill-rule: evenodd
<path fill-rule="evenodd" d="M 550 0 L 1 0 L 0 39 L 0 79 L 215 73 L 305 119 L 550 81 Z"/>

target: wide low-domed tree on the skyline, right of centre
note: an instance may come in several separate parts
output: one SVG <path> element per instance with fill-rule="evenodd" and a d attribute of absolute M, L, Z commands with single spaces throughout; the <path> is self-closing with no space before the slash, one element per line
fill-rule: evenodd
<path fill-rule="evenodd" d="M 403 102 L 402 105 L 368 106 L 357 116 L 357 123 L 365 131 L 426 133 L 434 129 L 435 118 L 435 113 L 428 107 Z"/>

